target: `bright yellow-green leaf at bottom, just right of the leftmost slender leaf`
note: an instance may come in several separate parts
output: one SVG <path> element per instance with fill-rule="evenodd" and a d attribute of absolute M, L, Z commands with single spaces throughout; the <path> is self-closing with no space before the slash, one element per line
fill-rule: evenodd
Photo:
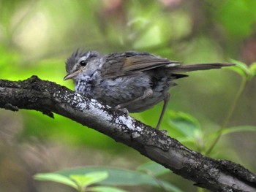
<path fill-rule="evenodd" d="M 86 186 L 98 183 L 99 181 L 108 178 L 108 172 L 91 172 L 88 174 L 70 174 L 70 179 L 80 186 L 80 188 L 86 188 Z"/>

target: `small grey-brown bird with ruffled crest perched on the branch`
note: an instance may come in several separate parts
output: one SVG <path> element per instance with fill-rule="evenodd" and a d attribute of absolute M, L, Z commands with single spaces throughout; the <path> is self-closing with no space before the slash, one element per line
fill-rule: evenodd
<path fill-rule="evenodd" d="M 157 123 L 165 113 L 173 80 L 187 77 L 182 72 L 219 69 L 233 64 L 183 65 L 149 53 L 134 51 L 101 55 L 76 50 L 67 59 L 64 80 L 75 81 L 75 91 L 124 112 L 142 112 L 164 101 Z"/>

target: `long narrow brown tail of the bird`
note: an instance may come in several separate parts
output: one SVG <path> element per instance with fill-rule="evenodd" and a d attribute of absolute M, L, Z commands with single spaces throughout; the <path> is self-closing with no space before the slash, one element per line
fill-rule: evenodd
<path fill-rule="evenodd" d="M 184 65 L 179 64 L 175 66 L 168 67 L 171 72 L 192 72 L 197 70 L 208 70 L 208 69 L 220 69 L 224 66 L 233 66 L 235 64 L 229 63 L 212 63 L 212 64 L 191 64 L 191 65 Z"/>

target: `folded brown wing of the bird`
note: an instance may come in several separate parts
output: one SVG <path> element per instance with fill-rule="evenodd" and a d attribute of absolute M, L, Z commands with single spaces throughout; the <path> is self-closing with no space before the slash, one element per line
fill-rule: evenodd
<path fill-rule="evenodd" d="M 102 76 L 109 78 L 132 76 L 160 66 L 178 66 L 179 64 L 178 61 L 170 61 L 149 53 L 112 53 L 106 55 Z"/>

